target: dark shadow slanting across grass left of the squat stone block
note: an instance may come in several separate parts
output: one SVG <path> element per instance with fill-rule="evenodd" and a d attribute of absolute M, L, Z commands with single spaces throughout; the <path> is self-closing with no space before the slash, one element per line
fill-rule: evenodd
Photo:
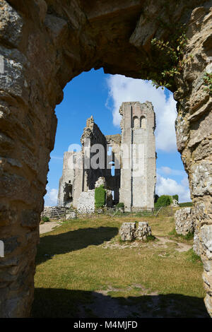
<path fill-rule="evenodd" d="M 90 245 L 98 246 L 110 241 L 119 232 L 117 227 L 83 228 L 57 235 L 40 237 L 37 247 L 36 263 L 40 264 L 57 254 L 86 248 Z"/>

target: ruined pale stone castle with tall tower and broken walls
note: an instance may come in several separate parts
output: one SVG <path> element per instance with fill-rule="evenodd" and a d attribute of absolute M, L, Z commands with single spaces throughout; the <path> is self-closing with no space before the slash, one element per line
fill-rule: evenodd
<path fill-rule="evenodd" d="M 81 199 L 90 199 L 90 191 L 95 189 L 98 179 L 104 178 L 106 189 L 112 192 L 113 204 L 122 202 L 127 210 L 154 207 L 153 105 L 123 102 L 119 113 L 121 135 L 104 136 L 91 116 L 81 137 L 81 151 L 64 153 L 58 206 L 78 208 Z"/>

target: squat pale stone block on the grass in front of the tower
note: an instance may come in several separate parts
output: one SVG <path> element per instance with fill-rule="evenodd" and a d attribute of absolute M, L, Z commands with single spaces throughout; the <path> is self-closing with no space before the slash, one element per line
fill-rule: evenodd
<path fill-rule="evenodd" d="M 140 222 L 138 228 L 136 228 L 136 223 L 123 223 L 119 235 L 122 241 L 143 240 L 151 235 L 151 226 L 148 226 L 146 222 Z"/>

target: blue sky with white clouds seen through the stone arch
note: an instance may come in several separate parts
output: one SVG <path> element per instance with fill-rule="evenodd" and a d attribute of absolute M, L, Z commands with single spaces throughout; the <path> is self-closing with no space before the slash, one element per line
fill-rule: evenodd
<path fill-rule="evenodd" d="M 56 107 L 58 119 L 54 150 L 49 162 L 45 205 L 57 204 L 63 154 L 73 143 L 80 144 L 86 119 L 93 115 L 105 135 L 121 133 L 119 106 L 125 101 L 153 102 L 156 113 L 157 159 L 156 192 L 179 194 L 179 201 L 189 201 L 187 174 L 176 148 L 176 102 L 172 93 L 155 89 L 151 82 L 105 74 L 102 69 L 81 73 L 64 88 L 64 100 Z"/>

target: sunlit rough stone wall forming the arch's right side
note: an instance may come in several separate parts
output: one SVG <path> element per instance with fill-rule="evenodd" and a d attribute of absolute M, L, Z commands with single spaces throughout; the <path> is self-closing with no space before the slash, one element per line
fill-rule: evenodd
<path fill-rule="evenodd" d="M 189 175 L 194 203 L 194 250 L 201 254 L 204 262 L 205 303 L 212 316 L 212 250 L 209 241 L 212 225 L 212 97 L 204 83 L 205 73 L 212 72 L 211 22 L 211 1 L 192 12 L 184 56 L 186 64 L 176 81 L 178 89 L 174 96 L 178 101 L 177 148 Z"/>

